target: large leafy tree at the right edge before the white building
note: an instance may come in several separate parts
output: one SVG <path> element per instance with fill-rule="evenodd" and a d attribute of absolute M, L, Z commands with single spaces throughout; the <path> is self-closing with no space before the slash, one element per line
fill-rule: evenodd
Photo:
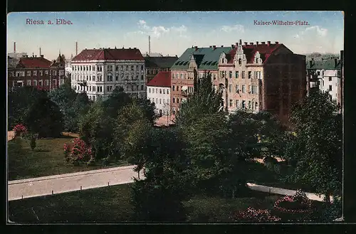
<path fill-rule="evenodd" d="M 317 193 L 341 193 L 342 118 L 328 92 L 310 92 L 293 107 L 290 122 L 295 135 L 289 136 L 284 158 L 293 166 L 288 180 L 307 184 Z"/>

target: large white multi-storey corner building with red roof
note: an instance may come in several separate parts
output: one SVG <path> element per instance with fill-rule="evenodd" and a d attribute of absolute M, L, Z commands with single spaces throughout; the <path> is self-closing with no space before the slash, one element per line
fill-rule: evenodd
<path fill-rule="evenodd" d="M 146 97 L 145 59 L 137 48 L 82 50 L 71 61 L 71 85 L 90 100 L 108 97 L 116 87 Z"/>

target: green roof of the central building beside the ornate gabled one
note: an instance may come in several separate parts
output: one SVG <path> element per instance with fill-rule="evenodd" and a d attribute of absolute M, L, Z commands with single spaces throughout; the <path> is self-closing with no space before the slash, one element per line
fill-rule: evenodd
<path fill-rule="evenodd" d="M 218 70 L 221 53 L 229 53 L 230 50 L 231 47 L 216 47 L 215 50 L 213 48 L 198 48 L 197 50 L 187 48 L 172 65 L 171 70 L 187 70 L 192 55 L 197 62 L 198 70 Z"/>

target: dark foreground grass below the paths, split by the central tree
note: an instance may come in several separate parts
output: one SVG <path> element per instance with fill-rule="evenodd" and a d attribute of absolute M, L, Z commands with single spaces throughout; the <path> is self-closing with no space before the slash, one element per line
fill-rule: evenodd
<path fill-rule="evenodd" d="M 195 196 L 184 206 L 188 221 L 231 222 L 235 211 L 271 208 L 278 198 L 251 191 L 235 199 Z M 130 184 L 9 201 L 9 220 L 16 223 L 118 223 L 132 221 L 132 215 Z"/>

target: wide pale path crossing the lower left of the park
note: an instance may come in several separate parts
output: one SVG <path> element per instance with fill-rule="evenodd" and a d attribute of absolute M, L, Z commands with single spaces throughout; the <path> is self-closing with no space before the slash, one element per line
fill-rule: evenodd
<path fill-rule="evenodd" d="M 84 190 L 104 187 L 108 186 L 108 184 L 109 186 L 129 184 L 134 181 L 133 177 L 137 178 L 137 172 L 133 171 L 133 168 L 134 166 L 120 166 L 110 169 L 9 181 L 8 198 L 9 201 L 14 201 L 21 198 L 51 195 L 52 191 L 53 194 L 78 191 L 80 186 Z M 142 178 L 144 176 L 140 174 L 140 179 Z"/>

